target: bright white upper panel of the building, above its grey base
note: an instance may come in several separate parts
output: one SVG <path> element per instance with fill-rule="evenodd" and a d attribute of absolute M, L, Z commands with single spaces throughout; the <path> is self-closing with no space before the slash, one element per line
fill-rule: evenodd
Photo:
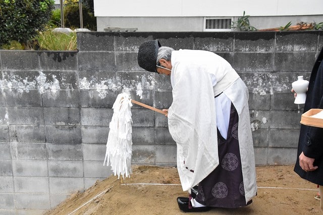
<path fill-rule="evenodd" d="M 94 0 L 96 17 L 322 15 L 322 0 Z"/>

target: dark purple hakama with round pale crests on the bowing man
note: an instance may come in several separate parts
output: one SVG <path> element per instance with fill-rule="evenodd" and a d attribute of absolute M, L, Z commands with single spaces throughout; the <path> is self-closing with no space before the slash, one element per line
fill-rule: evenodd
<path fill-rule="evenodd" d="M 226 208 L 246 205 L 238 141 L 238 121 L 238 113 L 231 104 L 227 139 L 224 139 L 218 130 L 220 164 L 198 185 L 195 200 L 201 204 Z"/>

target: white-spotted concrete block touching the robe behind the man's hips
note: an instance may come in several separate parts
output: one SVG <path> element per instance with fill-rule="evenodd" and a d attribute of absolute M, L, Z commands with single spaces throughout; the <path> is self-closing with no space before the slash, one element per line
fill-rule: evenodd
<path fill-rule="evenodd" d="M 270 125 L 270 112 L 269 111 L 255 111 L 250 110 L 250 123 L 251 131 L 258 129 L 267 129 Z"/>

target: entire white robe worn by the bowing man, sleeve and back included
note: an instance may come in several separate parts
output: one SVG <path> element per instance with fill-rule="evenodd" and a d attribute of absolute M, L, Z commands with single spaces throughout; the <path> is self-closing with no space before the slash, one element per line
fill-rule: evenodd
<path fill-rule="evenodd" d="M 224 112 L 217 111 L 214 96 L 224 93 L 221 99 L 230 99 L 239 115 L 239 148 L 248 202 L 256 195 L 257 185 L 247 87 L 227 61 L 209 51 L 174 50 L 171 63 L 173 103 L 168 123 L 177 143 L 183 190 L 198 184 L 219 165 L 217 115 Z M 221 129 L 225 129 L 223 125 Z"/>

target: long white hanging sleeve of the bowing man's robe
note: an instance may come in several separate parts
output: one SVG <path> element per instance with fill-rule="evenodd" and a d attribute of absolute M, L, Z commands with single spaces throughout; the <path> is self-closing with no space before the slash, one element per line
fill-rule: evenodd
<path fill-rule="evenodd" d="M 175 63 L 172 73 L 173 103 L 168 123 L 177 143 L 177 168 L 186 191 L 219 165 L 216 107 L 207 72 L 198 66 Z"/>

